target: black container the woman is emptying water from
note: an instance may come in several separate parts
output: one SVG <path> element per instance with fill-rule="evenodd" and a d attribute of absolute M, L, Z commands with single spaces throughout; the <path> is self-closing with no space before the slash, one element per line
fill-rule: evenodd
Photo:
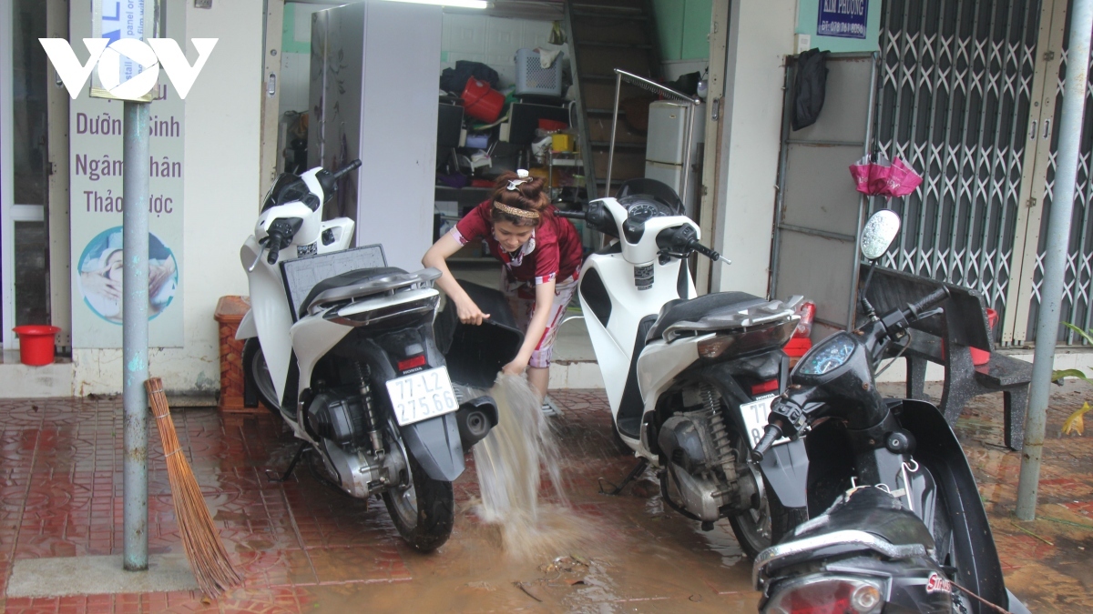
<path fill-rule="evenodd" d="M 490 318 L 480 326 L 465 324 L 459 321 L 455 304 L 447 300 L 433 322 L 436 344 L 453 382 L 490 388 L 501 368 L 520 351 L 524 333 L 516 328 L 508 299 L 500 291 L 463 281 L 459 285 Z"/>

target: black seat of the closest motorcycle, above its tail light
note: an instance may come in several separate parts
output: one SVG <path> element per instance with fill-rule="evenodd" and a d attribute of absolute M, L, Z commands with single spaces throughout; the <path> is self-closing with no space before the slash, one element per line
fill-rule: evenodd
<path fill-rule="evenodd" d="M 865 531 L 897 546 L 935 547 L 929 529 L 917 516 L 889 493 L 870 486 L 843 495 L 827 511 L 797 526 L 783 543 L 846 530 Z"/>

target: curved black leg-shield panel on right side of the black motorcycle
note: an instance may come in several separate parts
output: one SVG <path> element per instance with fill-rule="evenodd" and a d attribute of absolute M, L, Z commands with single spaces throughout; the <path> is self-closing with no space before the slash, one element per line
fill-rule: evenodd
<path fill-rule="evenodd" d="M 904 400 L 898 420 L 900 425 L 915 436 L 915 460 L 930 470 L 949 503 L 950 516 L 960 520 L 953 522 L 954 530 L 959 531 L 957 539 L 966 540 L 975 553 L 974 560 L 966 564 L 975 567 L 977 586 L 967 588 L 994 604 L 1007 605 L 1009 597 L 1002 579 L 1002 565 L 998 560 L 987 511 L 979 498 L 979 488 L 967 464 L 967 457 L 952 427 L 944 415 L 926 401 Z"/>

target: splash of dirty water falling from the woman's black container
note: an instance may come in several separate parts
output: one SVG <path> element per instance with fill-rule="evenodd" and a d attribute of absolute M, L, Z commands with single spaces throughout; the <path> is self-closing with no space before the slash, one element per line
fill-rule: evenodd
<path fill-rule="evenodd" d="M 497 426 L 473 448 L 482 504 L 478 516 L 496 524 L 505 551 L 532 557 L 568 547 L 581 521 L 562 492 L 559 451 L 538 393 L 519 376 L 501 375 L 490 390 L 497 402 Z M 557 504 L 541 504 L 545 472 Z"/>

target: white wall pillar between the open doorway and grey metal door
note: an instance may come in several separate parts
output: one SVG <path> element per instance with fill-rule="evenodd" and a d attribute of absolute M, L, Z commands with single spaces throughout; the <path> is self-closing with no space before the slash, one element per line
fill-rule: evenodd
<path fill-rule="evenodd" d="M 713 291 L 766 295 L 781 134 L 784 57 L 794 52 L 796 0 L 732 2 Z"/>

